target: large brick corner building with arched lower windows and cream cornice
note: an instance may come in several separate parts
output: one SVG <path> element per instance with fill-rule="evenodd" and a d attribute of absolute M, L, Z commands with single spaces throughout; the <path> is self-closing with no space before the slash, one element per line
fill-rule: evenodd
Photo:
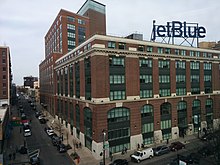
<path fill-rule="evenodd" d="M 220 51 L 94 35 L 56 61 L 55 111 L 99 158 L 220 124 Z M 203 129 L 204 128 L 204 129 Z"/>

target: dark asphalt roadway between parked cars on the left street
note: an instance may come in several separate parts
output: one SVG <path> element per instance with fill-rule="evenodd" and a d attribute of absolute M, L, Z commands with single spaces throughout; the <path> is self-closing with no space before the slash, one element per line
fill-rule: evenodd
<path fill-rule="evenodd" d="M 22 104 L 25 114 L 31 120 L 32 135 L 26 137 L 26 144 L 29 150 L 40 149 L 41 165 L 74 165 L 67 153 L 59 153 L 57 148 L 52 145 L 50 137 L 44 131 L 46 125 L 40 124 L 30 103 L 22 100 Z"/>

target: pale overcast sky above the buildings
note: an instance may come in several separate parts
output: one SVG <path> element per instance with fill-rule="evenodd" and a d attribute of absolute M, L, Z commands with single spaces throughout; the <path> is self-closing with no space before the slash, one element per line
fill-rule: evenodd
<path fill-rule="evenodd" d="M 39 77 L 44 60 L 44 36 L 60 9 L 74 13 L 86 0 L 0 0 L 0 45 L 9 46 L 13 83 Z M 141 33 L 150 40 L 153 20 L 199 23 L 206 28 L 200 41 L 220 40 L 219 0 L 97 0 L 106 5 L 107 34 L 125 37 Z"/>

